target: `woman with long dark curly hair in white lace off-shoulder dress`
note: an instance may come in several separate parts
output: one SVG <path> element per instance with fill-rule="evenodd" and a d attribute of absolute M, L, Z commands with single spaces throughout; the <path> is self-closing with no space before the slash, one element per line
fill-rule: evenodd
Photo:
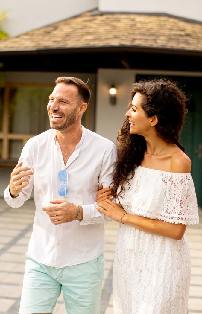
<path fill-rule="evenodd" d="M 120 223 L 115 314 L 187 313 L 191 260 L 184 232 L 199 218 L 191 160 L 179 143 L 186 102 L 171 81 L 133 85 L 117 137 L 111 188 L 117 203 L 105 199 L 107 189 L 97 201 L 98 211 Z"/>

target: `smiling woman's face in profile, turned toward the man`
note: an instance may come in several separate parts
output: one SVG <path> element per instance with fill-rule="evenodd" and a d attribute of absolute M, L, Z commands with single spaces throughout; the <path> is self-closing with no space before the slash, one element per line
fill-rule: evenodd
<path fill-rule="evenodd" d="M 130 123 L 130 133 L 145 136 L 151 128 L 151 117 L 147 117 L 142 109 L 142 95 L 136 93 L 132 100 L 131 108 L 126 112 Z"/>

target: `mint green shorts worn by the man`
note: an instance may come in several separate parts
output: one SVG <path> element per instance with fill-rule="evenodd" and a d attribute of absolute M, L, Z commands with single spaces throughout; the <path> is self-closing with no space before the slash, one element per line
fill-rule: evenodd
<path fill-rule="evenodd" d="M 63 290 L 66 314 L 99 314 L 104 254 L 56 269 L 26 257 L 19 314 L 53 313 Z"/>

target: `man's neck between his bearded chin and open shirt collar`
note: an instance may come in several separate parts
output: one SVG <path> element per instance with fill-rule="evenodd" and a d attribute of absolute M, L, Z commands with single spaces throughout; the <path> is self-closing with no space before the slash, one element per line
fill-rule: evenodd
<path fill-rule="evenodd" d="M 68 127 L 66 130 L 58 131 L 56 130 L 57 141 L 61 145 L 65 146 L 75 146 L 79 143 L 82 136 L 81 124 L 74 124 Z"/>

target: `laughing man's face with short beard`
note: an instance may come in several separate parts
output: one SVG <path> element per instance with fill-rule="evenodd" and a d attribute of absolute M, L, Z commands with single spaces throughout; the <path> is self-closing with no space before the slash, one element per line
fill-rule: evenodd
<path fill-rule="evenodd" d="M 63 131 L 73 125 L 77 119 L 78 102 L 78 89 L 74 84 L 57 84 L 47 105 L 50 127 Z"/>

